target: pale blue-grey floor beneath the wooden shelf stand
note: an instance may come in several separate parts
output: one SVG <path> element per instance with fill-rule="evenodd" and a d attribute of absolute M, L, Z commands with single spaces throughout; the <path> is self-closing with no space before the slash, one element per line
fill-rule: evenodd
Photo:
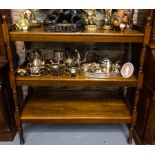
<path fill-rule="evenodd" d="M 127 145 L 128 128 L 125 124 L 24 124 L 25 145 Z M 134 141 L 132 143 L 135 144 Z M 13 142 L 0 145 L 19 145 Z"/>

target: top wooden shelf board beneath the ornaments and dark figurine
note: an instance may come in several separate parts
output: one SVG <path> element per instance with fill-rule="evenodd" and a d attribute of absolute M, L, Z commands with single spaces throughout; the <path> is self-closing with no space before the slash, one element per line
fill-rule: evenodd
<path fill-rule="evenodd" d="M 144 33 L 137 30 L 96 30 L 82 32 L 47 32 L 44 27 L 28 31 L 13 30 L 10 32 L 11 41 L 37 41 L 37 42 L 143 42 Z"/>

